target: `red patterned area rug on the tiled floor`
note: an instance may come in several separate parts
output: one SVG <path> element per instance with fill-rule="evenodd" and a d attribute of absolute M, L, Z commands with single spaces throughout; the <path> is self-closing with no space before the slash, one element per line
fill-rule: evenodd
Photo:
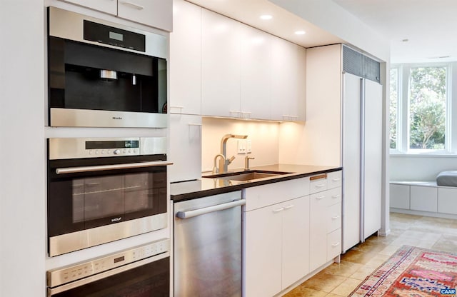
<path fill-rule="evenodd" d="M 350 296 L 456 296 L 456 287 L 456 253 L 402 246 Z"/>

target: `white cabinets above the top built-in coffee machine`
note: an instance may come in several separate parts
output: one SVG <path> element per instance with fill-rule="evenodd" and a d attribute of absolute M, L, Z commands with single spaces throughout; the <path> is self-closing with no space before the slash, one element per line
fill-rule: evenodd
<path fill-rule="evenodd" d="M 89 7 L 122 19 L 171 31 L 173 1 L 164 0 L 62 0 Z"/>

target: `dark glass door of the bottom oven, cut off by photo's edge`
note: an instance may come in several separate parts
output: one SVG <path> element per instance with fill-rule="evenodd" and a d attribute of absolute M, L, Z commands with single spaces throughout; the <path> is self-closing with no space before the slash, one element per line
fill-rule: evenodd
<path fill-rule="evenodd" d="M 169 297 L 169 257 L 86 283 L 51 297 Z"/>

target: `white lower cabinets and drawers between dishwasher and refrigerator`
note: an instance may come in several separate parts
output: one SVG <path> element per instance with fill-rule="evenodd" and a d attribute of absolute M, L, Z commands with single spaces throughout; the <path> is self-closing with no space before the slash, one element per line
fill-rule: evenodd
<path fill-rule="evenodd" d="M 274 296 L 341 253 L 341 171 L 319 176 L 246 188 L 244 296 Z"/>

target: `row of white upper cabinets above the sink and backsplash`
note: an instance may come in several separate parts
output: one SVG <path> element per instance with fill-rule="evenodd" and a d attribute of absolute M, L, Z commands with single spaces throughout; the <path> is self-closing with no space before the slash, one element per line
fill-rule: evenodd
<path fill-rule="evenodd" d="M 306 49 L 184 0 L 169 69 L 171 113 L 305 119 Z"/>

